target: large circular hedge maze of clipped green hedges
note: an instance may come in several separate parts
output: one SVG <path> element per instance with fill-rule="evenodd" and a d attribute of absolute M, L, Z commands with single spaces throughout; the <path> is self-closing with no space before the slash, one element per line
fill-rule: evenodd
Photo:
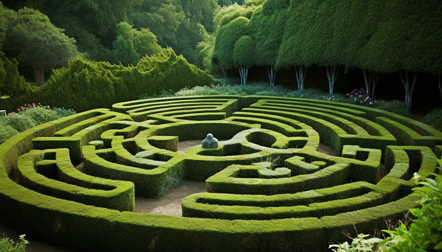
<path fill-rule="evenodd" d="M 177 152 L 208 133 L 227 140 Z M 412 174 L 434 173 L 441 145 L 430 126 L 338 102 L 123 102 L 0 145 L 0 218 L 93 251 L 326 251 L 344 231 L 369 233 L 419 206 Z M 183 199 L 183 217 L 133 212 L 134 196 L 161 198 L 183 178 L 207 188 Z"/>

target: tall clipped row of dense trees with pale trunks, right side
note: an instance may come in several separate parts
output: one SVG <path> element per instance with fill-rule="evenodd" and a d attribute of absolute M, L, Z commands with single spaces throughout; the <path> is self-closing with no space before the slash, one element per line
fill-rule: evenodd
<path fill-rule="evenodd" d="M 339 69 L 362 69 L 367 92 L 377 82 L 370 76 L 396 72 L 410 108 L 418 72 L 442 73 L 442 30 L 433 25 L 442 23 L 441 10 L 437 1 L 400 0 L 268 0 L 258 8 L 229 6 L 215 16 L 220 28 L 211 57 L 223 71 L 236 67 L 229 64 L 235 57 L 222 52 L 247 35 L 255 41 L 253 63 L 269 68 L 271 86 L 278 69 L 295 68 L 302 89 L 305 69 L 319 65 L 327 69 L 330 94 Z M 250 19 L 248 29 L 230 25 L 244 18 Z"/>

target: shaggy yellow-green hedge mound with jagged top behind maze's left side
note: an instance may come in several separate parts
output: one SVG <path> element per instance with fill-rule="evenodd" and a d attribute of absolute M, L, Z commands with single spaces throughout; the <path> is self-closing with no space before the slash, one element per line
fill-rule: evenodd
<path fill-rule="evenodd" d="M 67 68 L 53 71 L 48 83 L 14 99 L 1 99 L 0 107 L 8 111 L 32 102 L 51 104 L 83 112 L 110 108 L 116 102 L 137 99 L 140 94 L 183 87 L 204 86 L 214 80 L 172 49 L 141 58 L 136 66 L 114 65 L 107 62 L 69 62 Z"/>

